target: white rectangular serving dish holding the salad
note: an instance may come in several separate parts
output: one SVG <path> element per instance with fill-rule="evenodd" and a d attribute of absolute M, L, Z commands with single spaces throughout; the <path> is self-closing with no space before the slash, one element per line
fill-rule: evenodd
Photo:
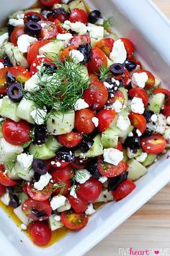
<path fill-rule="evenodd" d="M 34 0 L 6 0 L 1 3 L 1 20 L 6 14 L 29 7 Z M 100 9 L 104 17 L 113 16 L 118 34 L 135 43 L 137 54 L 146 67 L 169 85 L 170 25 L 164 14 L 150 0 L 88 0 L 90 6 Z M 3 16 L 4 15 L 4 16 Z M 169 153 L 170 154 L 170 153 Z M 168 155 L 168 153 L 167 153 Z M 110 202 L 90 218 L 85 229 L 68 234 L 52 247 L 41 249 L 0 209 L 0 252 L 3 256 L 80 256 L 104 239 L 117 226 L 135 213 L 144 203 L 170 181 L 170 158 L 164 155 L 149 168 L 137 188 L 120 202 Z M 20 240 L 22 239 L 22 242 Z M 107 253 L 107 252 L 106 252 Z"/>

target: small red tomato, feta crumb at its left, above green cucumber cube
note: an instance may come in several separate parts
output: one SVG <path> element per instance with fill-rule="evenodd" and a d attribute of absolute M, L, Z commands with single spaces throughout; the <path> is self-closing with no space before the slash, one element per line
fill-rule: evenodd
<path fill-rule="evenodd" d="M 99 111 L 99 113 L 97 114 L 97 118 L 99 119 L 99 125 L 97 129 L 99 129 L 100 132 L 104 132 L 105 129 L 107 129 L 112 121 L 115 119 L 115 116 L 115 110 L 103 109 Z"/>

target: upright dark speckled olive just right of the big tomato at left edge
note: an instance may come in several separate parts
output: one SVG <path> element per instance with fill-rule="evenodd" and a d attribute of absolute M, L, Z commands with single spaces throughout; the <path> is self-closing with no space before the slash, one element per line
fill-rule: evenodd
<path fill-rule="evenodd" d="M 48 139 L 48 131 L 45 124 L 35 124 L 35 139 L 34 144 L 42 145 Z"/>

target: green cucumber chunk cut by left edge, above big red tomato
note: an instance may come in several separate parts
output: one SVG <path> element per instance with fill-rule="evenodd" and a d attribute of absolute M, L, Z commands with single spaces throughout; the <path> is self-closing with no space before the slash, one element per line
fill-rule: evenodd
<path fill-rule="evenodd" d="M 0 115 L 12 119 L 13 121 L 19 121 L 19 117 L 17 116 L 17 107 L 18 103 L 14 103 L 9 100 L 8 97 L 4 97 L 1 101 Z"/>

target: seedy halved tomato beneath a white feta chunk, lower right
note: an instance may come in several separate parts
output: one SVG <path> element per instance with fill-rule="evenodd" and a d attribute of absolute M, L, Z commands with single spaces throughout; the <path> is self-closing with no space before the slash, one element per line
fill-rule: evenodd
<path fill-rule="evenodd" d="M 97 161 L 97 168 L 102 176 L 111 178 L 118 176 L 126 171 L 128 169 L 128 164 L 124 160 L 122 160 L 120 161 L 120 163 L 117 164 L 117 166 L 114 166 L 111 163 L 104 162 L 101 155 L 99 156 Z"/>

